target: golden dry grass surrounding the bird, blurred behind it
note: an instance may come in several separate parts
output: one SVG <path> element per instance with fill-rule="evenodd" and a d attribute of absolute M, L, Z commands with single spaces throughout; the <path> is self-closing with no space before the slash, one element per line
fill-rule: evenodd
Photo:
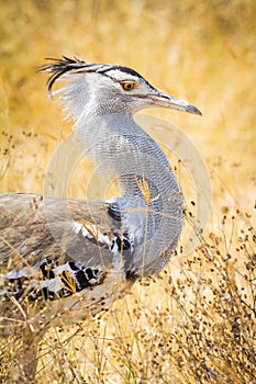
<path fill-rule="evenodd" d="M 202 118 L 151 113 L 192 137 L 213 189 L 197 250 L 103 316 L 52 329 L 37 383 L 256 383 L 255 12 L 254 0 L 0 0 L 1 192 L 42 192 L 60 129 L 70 133 L 35 75 L 60 55 L 134 67 L 199 106 Z M 84 169 L 69 195 L 86 181 Z M 15 381 L 10 347 L 2 382 L 8 370 Z"/>

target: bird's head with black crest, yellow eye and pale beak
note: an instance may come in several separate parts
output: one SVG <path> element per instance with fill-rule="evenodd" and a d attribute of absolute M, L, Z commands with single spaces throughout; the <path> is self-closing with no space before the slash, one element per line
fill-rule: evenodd
<path fill-rule="evenodd" d="M 177 99 L 146 81 L 135 70 L 116 65 L 89 64 L 80 59 L 56 60 L 41 67 L 40 71 L 51 72 L 48 90 L 60 77 L 67 86 L 55 93 L 67 104 L 69 113 L 78 118 L 85 106 L 94 110 L 101 106 L 107 113 L 160 106 L 201 115 L 201 112 L 185 100 Z M 112 110 L 112 111 L 111 111 Z"/>

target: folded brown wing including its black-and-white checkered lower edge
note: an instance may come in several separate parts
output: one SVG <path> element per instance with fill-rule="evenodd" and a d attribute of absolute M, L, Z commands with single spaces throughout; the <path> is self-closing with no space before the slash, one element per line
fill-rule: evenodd
<path fill-rule="evenodd" d="M 20 284 L 40 272 L 37 287 L 45 289 L 44 295 L 59 293 L 63 283 L 66 289 L 73 279 L 77 292 L 100 283 L 109 270 L 121 270 L 123 249 L 130 251 L 121 222 L 109 214 L 104 203 L 40 194 L 0 195 L 0 274 L 11 282 Z"/>

